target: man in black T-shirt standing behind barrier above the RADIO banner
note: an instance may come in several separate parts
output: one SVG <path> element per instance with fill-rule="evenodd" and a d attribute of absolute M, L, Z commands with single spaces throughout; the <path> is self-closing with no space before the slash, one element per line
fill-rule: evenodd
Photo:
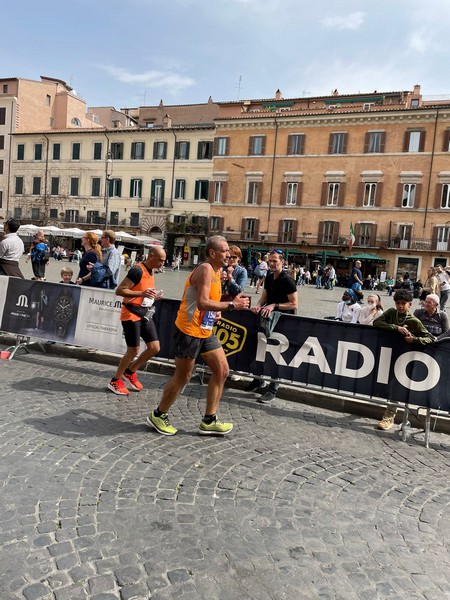
<path fill-rule="evenodd" d="M 252 311 L 261 317 L 269 317 L 273 311 L 294 315 L 297 311 L 297 286 L 292 277 L 283 269 L 284 256 L 282 250 L 269 252 L 269 273 L 264 281 L 261 298 Z M 264 391 L 258 402 L 267 404 L 277 395 L 279 383 L 271 381 L 266 387 L 261 379 L 254 379 L 246 388 L 247 391 Z"/>

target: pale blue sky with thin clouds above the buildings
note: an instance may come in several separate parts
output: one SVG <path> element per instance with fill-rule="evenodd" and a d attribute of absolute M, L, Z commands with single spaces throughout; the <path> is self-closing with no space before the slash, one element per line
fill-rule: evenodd
<path fill-rule="evenodd" d="M 415 84 L 450 98 L 450 0 L 21 0 L 3 15 L 0 77 L 62 79 L 87 106 Z"/>

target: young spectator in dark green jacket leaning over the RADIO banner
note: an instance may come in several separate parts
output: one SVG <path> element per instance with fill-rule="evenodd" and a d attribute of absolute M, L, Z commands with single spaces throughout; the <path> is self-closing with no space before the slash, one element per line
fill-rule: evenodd
<path fill-rule="evenodd" d="M 375 319 L 373 326 L 387 331 L 398 331 L 408 344 L 425 346 L 436 341 L 421 321 L 409 312 L 413 295 L 408 290 L 400 289 L 394 294 L 395 308 L 388 308 L 381 317 Z M 397 403 L 388 402 L 378 429 L 390 429 L 397 414 Z"/>

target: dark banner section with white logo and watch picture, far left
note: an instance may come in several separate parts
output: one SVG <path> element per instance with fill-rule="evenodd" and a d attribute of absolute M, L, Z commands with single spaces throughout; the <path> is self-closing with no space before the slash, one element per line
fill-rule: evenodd
<path fill-rule="evenodd" d="M 2 331 L 73 344 L 80 291 L 75 285 L 10 277 Z"/>

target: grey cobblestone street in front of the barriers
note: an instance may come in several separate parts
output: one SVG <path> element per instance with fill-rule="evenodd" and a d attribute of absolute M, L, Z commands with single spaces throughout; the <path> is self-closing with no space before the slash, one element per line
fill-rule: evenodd
<path fill-rule="evenodd" d="M 166 438 L 145 417 L 167 375 L 122 399 L 106 364 L 33 353 L 0 369 L 2 600 L 450 598 L 445 434 L 427 450 L 228 388 L 235 429 L 204 438 L 194 382 Z"/>

